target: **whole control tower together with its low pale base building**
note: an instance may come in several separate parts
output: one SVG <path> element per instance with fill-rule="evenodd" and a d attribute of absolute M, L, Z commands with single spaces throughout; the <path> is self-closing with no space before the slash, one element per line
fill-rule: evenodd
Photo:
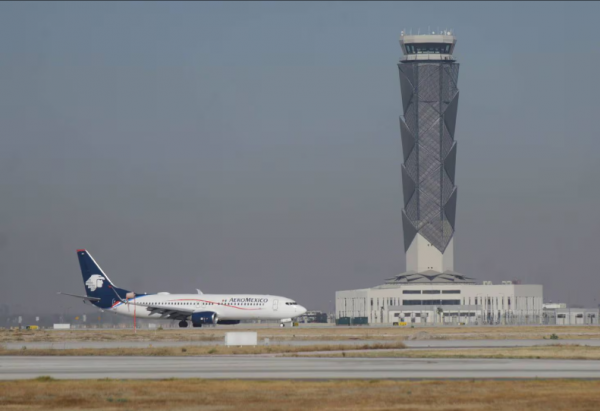
<path fill-rule="evenodd" d="M 482 284 L 454 271 L 459 63 L 451 32 L 402 32 L 398 63 L 406 272 L 336 293 L 338 324 L 540 324 L 541 285 Z"/>

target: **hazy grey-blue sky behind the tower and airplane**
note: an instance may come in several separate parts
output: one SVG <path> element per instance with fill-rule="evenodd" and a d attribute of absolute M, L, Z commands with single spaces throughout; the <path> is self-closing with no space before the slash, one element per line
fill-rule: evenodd
<path fill-rule="evenodd" d="M 600 4 L 0 3 L 0 303 L 336 290 L 405 269 L 402 29 L 454 29 L 455 268 L 600 302 Z"/>

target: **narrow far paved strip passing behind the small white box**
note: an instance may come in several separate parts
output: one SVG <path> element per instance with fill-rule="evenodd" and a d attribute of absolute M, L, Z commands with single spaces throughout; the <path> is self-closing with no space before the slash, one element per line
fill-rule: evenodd
<path fill-rule="evenodd" d="M 398 340 L 314 340 L 314 341 L 271 341 L 271 345 L 364 345 L 385 344 Z M 539 345 L 577 344 L 600 347 L 600 339 L 593 340 L 402 340 L 407 348 L 414 349 L 451 349 L 451 348 L 510 348 L 533 347 Z M 259 341 L 264 345 L 264 341 Z M 73 348 L 147 348 L 147 347 L 181 347 L 187 345 L 224 345 L 220 341 L 68 341 L 68 342 L 9 342 L 2 347 L 9 350 L 26 349 L 73 349 Z"/>

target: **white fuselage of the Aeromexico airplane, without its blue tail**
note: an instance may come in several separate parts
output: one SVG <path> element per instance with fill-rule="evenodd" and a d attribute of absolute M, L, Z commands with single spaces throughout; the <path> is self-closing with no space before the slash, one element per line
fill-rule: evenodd
<path fill-rule="evenodd" d="M 139 318 L 161 319 L 145 305 L 190 312 L 211 311 L 219 320 L 287 320 L 306 312 L 289 298 L 252 294 L 151 294 L 138 295 L 126 302 L 115 301 L 110 311 Z M 163 318 L 167 319 L 167 318 Z"/>

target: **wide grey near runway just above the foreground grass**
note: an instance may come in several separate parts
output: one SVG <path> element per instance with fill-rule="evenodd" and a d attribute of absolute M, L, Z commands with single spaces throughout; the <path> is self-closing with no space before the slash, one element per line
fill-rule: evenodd
<path fill-rule="evenodd" d="M 600 361 L 400 358 L 0 357 L 0 379 L 600 378 Z"/>

